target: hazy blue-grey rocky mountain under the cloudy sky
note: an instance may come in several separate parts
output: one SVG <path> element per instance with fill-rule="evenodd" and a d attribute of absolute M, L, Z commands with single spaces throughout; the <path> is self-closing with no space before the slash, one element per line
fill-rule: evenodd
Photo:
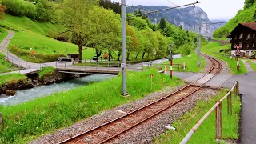
<path fill-rule="evenodd" d="M 134 11 L 140 10 L 142 13 L 146 13 L 148 11 L 153 10 L 162 10 L 166 9 L 168 6 L 128 6 L 126 8 L 127 13 L 134 13 Z M 165 10 L 154 14 L 148 14 L 148 18 L 150 21 L 157 24 L 160 22 L 161 18 L 166 18 L 168 22 L 174 24 L 176 26 L 182 26 L 185 30 L 191 30 L 198 32 L 198 24 L 199 24 L 199 13 L 201 12 L 202 23 L 211 23 L 208 18 L 206 12 L 204 12 L 200 7 L 187 7 L 185 9 L 173 9 L 173 10 Z M 196 30 L 194 29 L 196 27 Z M 218 26 L 203 26 L 202 34 L 206 37 L 212 37 L 214 30 L 216 30 Z"/>

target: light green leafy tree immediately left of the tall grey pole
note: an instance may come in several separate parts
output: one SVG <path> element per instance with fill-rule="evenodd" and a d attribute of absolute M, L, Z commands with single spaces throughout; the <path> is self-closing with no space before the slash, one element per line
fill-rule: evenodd
<path fill-rule="evenodd" d="M 97 57 L 105 50 L 111 58 L 114 50 L 121 50 L 120 17 L 112 10 L 95 6 L 90 10 L 90 21 L 93 25 L 90 26 L 88 45 L 95 48 Z"/>

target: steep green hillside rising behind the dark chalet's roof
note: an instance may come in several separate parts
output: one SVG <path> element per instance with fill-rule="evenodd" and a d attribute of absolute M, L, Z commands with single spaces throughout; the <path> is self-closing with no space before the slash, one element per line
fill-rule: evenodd
<path fill-rule="evenodd" d="M 218 30 L 214 31 L 214 38 L 226 38 L 228 34 L 236 26 L 238 26 L 241 22 L 254 22 L 256 16 L 256 3 L 254 3 L 253 6 L 250 6 L 249 8 L 245 10 L 239 10 L 238 14 L 232 19 L 230 19 L 229 22 L 226 23 L 225 26 L 222 26 Z"/>

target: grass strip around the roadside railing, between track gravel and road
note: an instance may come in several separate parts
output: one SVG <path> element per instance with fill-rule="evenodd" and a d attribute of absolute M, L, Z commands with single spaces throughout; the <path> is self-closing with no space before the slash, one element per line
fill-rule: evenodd
<path fill-rule="evenodd" d="M 190 131 L 190 129 L 202 118 L 204 114 L 212 106 L 214 106 L 215 101 L 220 100 L 226 94 L 226 90 L 222 90 L 216 97 L 210 98 L 206 102 L 198 102 L 194 110 L 191 110 L 189 113 L 184 114 L 177 122 L 174 122 L 174 127 L 176 131 L 168 131 L 167 134 L 162 134 L 160 138 L 155 140 L 155 143 L 172 143 L 178 144 Z M 227 100 L 222 102 L 222 131 L 224 139 L 235 139 L 238 140 L 238 122 L 239 114 L 241 109 L 240 98 L 237 101 L 232 101 L 233 103 L 233 114 L 227 114 Z M 192 138 L 188 143 L 217 143 L 215 140 L 215 112 L 212 114 L 206 121 L 199 126 L 198 130 L 194 133 Z"/>

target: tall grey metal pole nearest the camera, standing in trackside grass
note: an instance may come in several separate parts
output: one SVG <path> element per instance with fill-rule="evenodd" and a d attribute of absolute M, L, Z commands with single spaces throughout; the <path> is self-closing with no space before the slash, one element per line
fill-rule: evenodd
<path fill-rule="evenodd" d="M 126 0 L 121 2 L 121 17 L 122 17 L 122 96 L 127 96 L 126 83 Z"/>

